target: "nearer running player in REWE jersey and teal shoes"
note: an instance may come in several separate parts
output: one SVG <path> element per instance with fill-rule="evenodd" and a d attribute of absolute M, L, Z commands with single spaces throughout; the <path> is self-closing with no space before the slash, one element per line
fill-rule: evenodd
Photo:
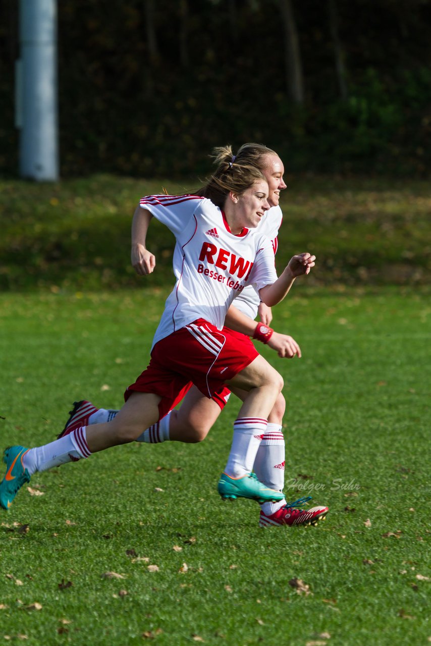
<path fill-rule="evenodd" d="M 315 256 L 289 260 L 277 278 L 271 242 L 257 231 L 269 209 L 268 182 L 258 169 L 224 155 L 207 189 L 220 198 L 220 209 L 207 198 L 143 198 L 145 211 L 165 222 L 177 240 L 176 286 L 167 298 L 154 336 L 149 366 L 125 392 L 125 404 L 112 421 L 76 428 L 56 441 L 27 449 L 6 448 L 6 474 L 0 505 L 7 509 L 35 472 L 45 471 L 111 446 L 135 441 L 182 399 L 189 382 L 211 397 L 228 386 L 248 392 L 237 420 L 224 473 L 222 497 L 277 501 L 283 495 L 258 481 L 253 463 L 268 415 L 282 390 L 282 377 L 253 346 L 221 331 L 233 298 L 254 284 L 260 298 L 280 302 L 295 278 L 310 273 Z M 208 231 L 216 228 L 219 239 Z M 214 242 L 213 242 L 214 240 Z"/>

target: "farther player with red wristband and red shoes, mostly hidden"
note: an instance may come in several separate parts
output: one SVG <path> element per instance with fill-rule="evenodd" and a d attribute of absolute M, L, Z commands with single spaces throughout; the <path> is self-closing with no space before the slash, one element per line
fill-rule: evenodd
<path fill-rule="evenodd" d="M 217 150 L 217 149 L 216 149 Z M 230 152 L 230 151 L 229 151 Z M 282 222 L 282 211 L 279 207 L 280 191 L 286 188 L 284 182 L 284 165 L 277 153 L 259 143 L 246 143 L 238 149 L 232 162 L 236 160 L 247 160 L 260 169 L 264 174 L 269 186 L 268 203 L 269 211 L 258 225 L 260 233 L 265 234 L 273 245 L 274 253 L 277 251 L 277 236 Z M 136 218 L 141 214 L 137 211 Z M 146 225 L 149 222 L 145 223 Z M 138 227 L 136 227 L 138 228 Z M 145 246 L 146 229 L 142 226 L 139 231 L 134 231 L 132 236 L 132 265 L 140 275 L 147 275 L 154 271 L 155 258 Z M 216 236 L 216 231 L 210 233 Z M 260 323 L 255 322 L 259 315 Z M 231 333 L 247 335 L 254 339 L 261 340 L 275 349 L 280 357 L 300 357 L 300 348 L 292 337 L 282 335 L 269 328 L 272 320 L 271 308 L 260 301 L 260 298 L 253 288 L 247 286 L 242 293 L 235 298 L 233 305 L 229 308 L 226 316 L 226 327 Z M 269 328 L 269 334 L 260 334 L 262 326 Z M 235 332 L 233 332 L 235 329 Z M 268 338 L 269 337 L 269 338 Z M 247 393 L 238 388 L 232 388 L 235 395 L 244 401 Z M 224 391 L 207 399 L 200 390 L 193 386 L 184 397 L 184 401 L 178 410 L 171 410 L 159 422 L 145 430 L 138 438 L 138 441 L 148 443 L 160 443 L 163 441 L 200 442 L 205 439 L 211 426 L 215 423 L 218 415 L 223 410 L 230 391 Z M 285 440 L 282 433 L 282 417 L 286 408 L 286 402 L 282 393 L 279 394 L 273 410 L 269 413 L 268 426 L 264 437 L 258 448 L 253 471 L 258 479 L 270 488 L 282 490 L 284 488 L 284 466 L 285 466 Z M 76 426 L 83 424 L 95 424 L 109 421 L 116 410 L 98 409 L 89 401 L 75 402 L 74 409 L 70 411 L 70 417 L 63 430 L 68 433 Z M 265 502 L 260 505 L 260 526 L 286 526 L 286 525 L 315 525 L 328 512 L 327 507 L 314 507 L 302 510 L 310 497 L 299 501 L 288 503 L 286 499 L 276 503 Z"/>

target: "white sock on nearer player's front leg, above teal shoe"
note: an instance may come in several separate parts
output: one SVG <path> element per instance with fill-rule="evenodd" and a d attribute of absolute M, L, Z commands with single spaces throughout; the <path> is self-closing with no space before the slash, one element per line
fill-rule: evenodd
<path fill-rule="evenodd" d="M 253 470 L 267 424 L 266 419 L 259 417 L 241 417 L 233 422 L 231 452 L 224 470 L 227 475 L 239 478 Z"/>

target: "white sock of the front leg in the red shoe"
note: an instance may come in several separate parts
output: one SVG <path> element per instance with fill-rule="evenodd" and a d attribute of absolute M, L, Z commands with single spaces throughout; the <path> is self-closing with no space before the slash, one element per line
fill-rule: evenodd
<path fill-rule="evenodd" d="M 284 459 L 286 453 L 281 429 L 280 424 L 268 423 L 253 466 L 253 471 L 260 482 L 278 491 L 282 491 L 284 488 Z M 277 503 L 263 503 L 260 508 L 264 514 L 270 516 L 284 505 L 286 505 L 285 499 L 277 501 Z"/>

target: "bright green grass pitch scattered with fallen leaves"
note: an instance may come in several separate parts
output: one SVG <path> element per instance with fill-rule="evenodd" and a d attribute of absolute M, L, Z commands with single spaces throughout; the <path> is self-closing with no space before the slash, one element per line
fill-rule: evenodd
<path fill-rule="evenodd" d="M 74 399 L 120 406 L 167 295 L 57 292 L 0 295 L 2 448 L 54 439 Z M 329 506 L 317 528 L 218 497 L 235 401 L 204 443 L 36 474 L 1 516 L 0 641 L 428 643 L 430 317 L 426 287 L 298 281 L 275 309 L 303 352 L 259 348 L 286 383 L 286 495 Z"/>

